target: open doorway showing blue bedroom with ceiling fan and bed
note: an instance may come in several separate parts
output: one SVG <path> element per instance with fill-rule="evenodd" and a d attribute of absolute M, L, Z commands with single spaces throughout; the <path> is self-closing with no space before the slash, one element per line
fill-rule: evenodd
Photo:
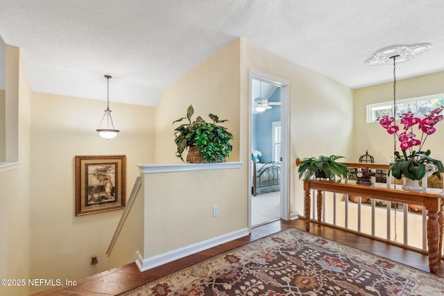
<path fill-rule="evenodd" d="M 289 220 L 289 84 L 263 73 L 250 75 L 250 227 Z"/>

